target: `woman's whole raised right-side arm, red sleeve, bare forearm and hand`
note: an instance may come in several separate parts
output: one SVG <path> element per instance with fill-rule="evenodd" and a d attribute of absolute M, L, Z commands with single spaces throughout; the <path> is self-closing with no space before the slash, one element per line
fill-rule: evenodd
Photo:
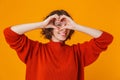
<path fill-rule="evenodd" d="M 91 35 L 93 38 L 90 41 L 85 41 L 82 44 L 74 46 L 76 53 L 79 55 L 79 59 L 84 66 L 93 63 L 99 56 L 99 54 L 106 50 L 108 45 L 112 42 L 113 36 L 107 32 L 103 32 L 94 28 L 81 26 L 75 23 L 72 19 L 67 16 L 62 16 L 62 19 L 66 21 L 66 26 L 63 28 L 73 29 L 86 34 Z M 63 29 L 61 28 L 61 29 Z"/>

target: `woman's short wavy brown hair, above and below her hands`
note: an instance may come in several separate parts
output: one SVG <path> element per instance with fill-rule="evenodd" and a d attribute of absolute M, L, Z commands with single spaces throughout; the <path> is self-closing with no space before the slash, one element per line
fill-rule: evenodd
<path fill-rule="evenodd" d="M 52 16 L 54 14 L 57 14 L 58 16 L 66 15 L 66 16 L 68 16 L 68 17 L 70 17 L 72 19 L 72 17 L 65 10 L 54 10 L 48 16 L 46 16 L 45 19 L 47 19 L 49 16 Z M 74 30 L 70 30 L 70 33 L 69 33 L 67 39 L 71 39 L 71 36 L 72 36 L 73 33 L 74 33 Z M 53 28 L 44 28 L 44 29 L 42 29 L 42 34 L 44 35 L 45 38 L 51 40 L 52 35 L 53 35 Z"/>

